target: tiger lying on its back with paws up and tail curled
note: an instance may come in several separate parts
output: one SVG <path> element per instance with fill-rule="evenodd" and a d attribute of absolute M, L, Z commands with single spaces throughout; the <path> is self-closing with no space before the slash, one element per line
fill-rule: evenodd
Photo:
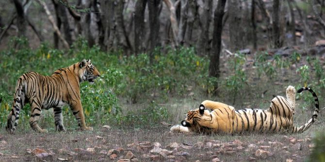
<path fill-rule="evenodd" d="M 309 90 L 315 99 L 315 111 L 311 119 L 301 126 L 293 125 L 295 113 L 295 89 L 287 88 L 287 99 L 276 96 L 268 110 L 235 110 L 232 106 L 213 101 L 204 101 L 198 109 L 190 110 L 181 125 L 175 125 L 171 132 L 195 133 L 242 133 L 242 132 L 287 132 L 302 133 L 306 131 L 318 116 L 318 98 L 310 88 L 300 88 L 298 93 Z M 205 109 L 211 109 L 211 112 Z"/>

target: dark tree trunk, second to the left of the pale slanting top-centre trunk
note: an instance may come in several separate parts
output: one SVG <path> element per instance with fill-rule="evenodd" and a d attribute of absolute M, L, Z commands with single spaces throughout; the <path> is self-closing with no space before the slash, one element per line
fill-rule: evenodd
<path fill-rule="evenodd" d="M 134 50 L 135 55 L 144 51 L 146 0 L 137 0 L 134 11 Z"/>

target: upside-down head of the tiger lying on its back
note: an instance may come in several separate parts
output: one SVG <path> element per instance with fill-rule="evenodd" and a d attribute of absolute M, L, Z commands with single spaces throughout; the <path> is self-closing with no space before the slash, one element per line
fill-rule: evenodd
<path fill-rule="evenodd" d="M 181 125 L 196 131 L 210 129 L 205 123 L 211 121 L 211 118 L 210 111 L 206 110 L 201 104 L 198 109 L 187 112 L 185 120 L 181 121 Z"/>

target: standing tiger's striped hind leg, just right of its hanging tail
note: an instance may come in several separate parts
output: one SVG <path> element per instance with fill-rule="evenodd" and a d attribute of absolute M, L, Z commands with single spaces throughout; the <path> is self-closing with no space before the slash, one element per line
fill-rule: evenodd
<path fill-rule="evenodd" d="M 36 101 L 36 100 L 33 100 L 33 101 Z M 31 111 L 32 113 L 31 113 L 31 118 L 29 120 L 29 124 L 31 125 L 31 127 L 33 128 L 34 131 L 39 132 L 39 133 L 47 133 L 48 130 L 41 129 L 37 124 L 39 116 L 42 113 L 41 108 L 39 106 L 37 106 L 37 104 L 35 102 L 31 105 L 31 108 L 32 108 L 32 111 Z"/>

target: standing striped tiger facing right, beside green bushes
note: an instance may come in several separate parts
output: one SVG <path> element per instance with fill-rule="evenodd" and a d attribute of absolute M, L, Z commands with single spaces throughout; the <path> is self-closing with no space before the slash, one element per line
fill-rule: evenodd
<path fill-rule="evenodd" d="M 41 115 L 41 109 L 52 107 L 56 130 L 65 131 L 62 107 L 66 104 L 70 106 L 81 130 L 93 130 L 91 127 L 86 127 L 85 124 L 80 99 L 80 83 L 88 81 L 93 84 L 99 76 L 99 72 L 90 59 L 87 61 L 82 59 L 81 62 L 58 69 L 51 76 L 35 72 L 22 74 L 16 83 L 13 108 L 8 115 L 7 131 L 15 133 L 19 111 L 25 103 L 31 104 L 29 123 L 36 132 L 47 132 L 46 129 L 41 129 L 38 126 L 37 121 Z"/>

